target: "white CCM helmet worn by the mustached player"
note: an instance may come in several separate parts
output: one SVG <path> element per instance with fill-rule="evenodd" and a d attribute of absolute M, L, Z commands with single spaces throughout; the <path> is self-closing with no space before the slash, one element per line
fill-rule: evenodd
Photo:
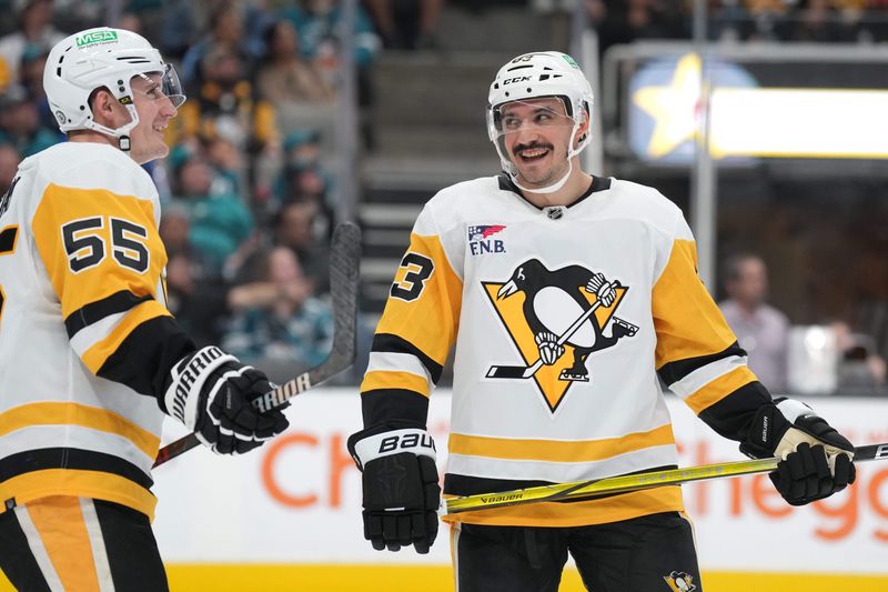
<path fill-rule="evenodd" d="M 508 173 L 515 184 L 518 184 L 517 169 L 507 157 L 500 108 L 512 101 L 526 101 L 542 97 L 561 99 L 567 117 L 574 120 L 574 131 L 571 134 L 567 152 L 568 163 L 592 140 L 592 134 L 587 131 L 574 148 L 577 131 L 583 124 L 582 113 L 585 110 L 592 118 L 594 98 L 589 81 L 586 80 L 583 70 L 571 56 L 559 51 L 541 51 L 525 53 L 511 60 L 496 72 L 496 78 L 491 84 L 491 92 L 487 96 L 487 136 L 496 147 L 503 170 Z M 569 174 L 571 169 L 557 183 L 542 190 L 528 190 L 519 184 L 518 187 L 526 191 L 549 193 L 557 191 Z"/>

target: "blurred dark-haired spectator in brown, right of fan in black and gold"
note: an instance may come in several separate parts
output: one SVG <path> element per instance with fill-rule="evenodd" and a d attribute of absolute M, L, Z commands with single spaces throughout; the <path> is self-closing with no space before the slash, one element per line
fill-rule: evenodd
<path fill-rule="evenodd" d="M 300 52 L 293 23 L 280 20 L 266 34 L 268 53 L 256 78 L 260 96 L 279 106 L 286 102 L 331 102 L 334 88 L 324 80 L 315 62 Z"/>

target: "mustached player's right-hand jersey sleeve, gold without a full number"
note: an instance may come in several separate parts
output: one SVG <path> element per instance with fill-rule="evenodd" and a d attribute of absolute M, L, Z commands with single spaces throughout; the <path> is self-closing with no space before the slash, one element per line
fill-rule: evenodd
<path fill-rule="evenodd" d="M 741 440 L 771 398 L 697 274 L 696 244 L 680 214 L 659 267 L 652 294 L 657 373 L 715 431 Z"/>

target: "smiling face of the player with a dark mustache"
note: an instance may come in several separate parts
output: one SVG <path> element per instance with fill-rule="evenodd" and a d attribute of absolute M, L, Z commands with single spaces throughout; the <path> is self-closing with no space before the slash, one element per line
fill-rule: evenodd
<path fill-rule="evenodd" d="M 502 106 L 500 114 L 506 154 L 524 183 L 543 188 L 566 173 L 574 120 L 561 99 L 513 101 Z"/>

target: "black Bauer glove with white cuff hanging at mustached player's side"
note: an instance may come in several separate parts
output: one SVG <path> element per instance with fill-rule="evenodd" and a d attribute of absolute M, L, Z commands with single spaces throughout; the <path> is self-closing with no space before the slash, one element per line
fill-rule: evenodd
<path fill-rule="evenodd" d="M 349 452 L 363 472 L 364 539 L 377 551 L 413 544 L 427 553 L 441 503 L 428 432 L 410 422 L 376 425 L 352 434 Z"/>

